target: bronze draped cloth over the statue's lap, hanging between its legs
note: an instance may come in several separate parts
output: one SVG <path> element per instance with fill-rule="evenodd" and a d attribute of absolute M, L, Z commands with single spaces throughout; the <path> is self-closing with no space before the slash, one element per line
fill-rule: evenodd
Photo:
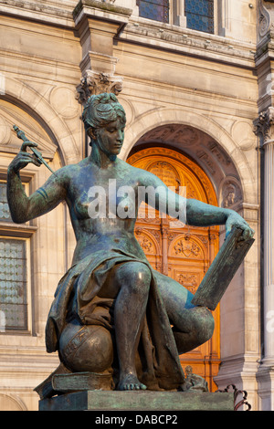
<path fill-rule="evenodd" d="M 111 268 L 130 261 L 142 262 L 152 272 L 146 318 L 139 345 L 139 350 L 142 350 L 142 374 L 138 374 L 140 381 L 152 390 L 177 389 L 184 383 L 184 371 L 179 361 L 170 321 L 153 276 L 153 268 L 146 259 L 142 260 L 121 249 L 113 248 L 107 255 L 102 250 L 86 256 L 70 267 L 60 279 L 47 319 L 47 351 L 58 350 L 58 339 L 66 326 L 68 303 L 73 292 L 73 310 L 83 324 L 100 324 L 108 330 L 113 328 L 111 316 L 105 317 L 105 311 L 103 316 L 96 311 L 98 306 L 110 309 L 113 300 L 98 298 L 97 295 Z"/>

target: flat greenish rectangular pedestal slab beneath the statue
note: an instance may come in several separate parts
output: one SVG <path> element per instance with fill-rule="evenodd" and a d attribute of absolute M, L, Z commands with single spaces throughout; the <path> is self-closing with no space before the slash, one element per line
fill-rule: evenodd
<path fill-rule="evenodd" d="M 39 411 L 234 411 L 228 392 L 107 392 L 66 393 L 39 402 Z"/>

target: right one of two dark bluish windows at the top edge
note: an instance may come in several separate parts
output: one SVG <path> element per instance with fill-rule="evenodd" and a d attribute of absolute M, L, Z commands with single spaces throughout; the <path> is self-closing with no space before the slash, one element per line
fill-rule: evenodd
<path fill-rule="evenodd" d="M 214 0 L 185 0 L 187 28 L 214 33 Z"/>

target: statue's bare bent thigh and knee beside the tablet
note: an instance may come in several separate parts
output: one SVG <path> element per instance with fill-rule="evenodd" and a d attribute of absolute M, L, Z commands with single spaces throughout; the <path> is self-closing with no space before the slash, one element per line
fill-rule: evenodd
<path fill-rule="evenodd" d="M 205 307 L 191 304 L 194 295 L 173 278 L 153 271 L 163 298 L 167 315 L 174 325 L 174 339 L 179 354 L 192 351 L 210 340 L 214 331 L 214 318 Z"/>

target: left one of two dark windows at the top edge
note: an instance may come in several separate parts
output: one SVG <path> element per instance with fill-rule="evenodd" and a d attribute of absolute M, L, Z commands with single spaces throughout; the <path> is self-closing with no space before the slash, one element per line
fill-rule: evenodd
<path fill-rule="evenodd" d="M 169 23 L 169 0 L 137 0 L 139 16 Z"/>

